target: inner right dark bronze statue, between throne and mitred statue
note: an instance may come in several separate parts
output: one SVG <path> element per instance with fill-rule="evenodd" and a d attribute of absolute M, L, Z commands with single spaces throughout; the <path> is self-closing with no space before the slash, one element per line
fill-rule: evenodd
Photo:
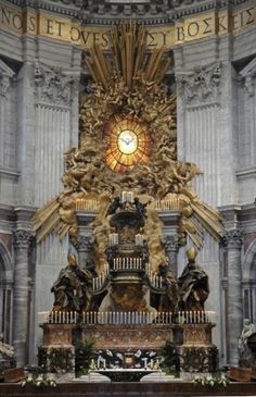
<path fill-rule="evenodd" d="M 168 264 L 161 264 L 158 273 L 163 278 L 163 287 L 166 288 L 166 291 L 161 295 L 158 311 L 171 311 L 174 313 L 178 309 L 179 301 L 177 281 Z"/>

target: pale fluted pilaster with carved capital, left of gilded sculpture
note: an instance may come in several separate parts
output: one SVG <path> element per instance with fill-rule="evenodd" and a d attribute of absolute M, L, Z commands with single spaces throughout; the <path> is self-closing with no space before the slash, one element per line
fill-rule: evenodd
<path fill-rule="evenodd" d="M 73 77 L 61 67 L 36 61 L 35 204 L 44 206 L 63 189 L 64 153 L 69 149 L 71 92 Z M 37 247 L 37 261 L 65 263 L 67 239 L 51 234 Z"/>

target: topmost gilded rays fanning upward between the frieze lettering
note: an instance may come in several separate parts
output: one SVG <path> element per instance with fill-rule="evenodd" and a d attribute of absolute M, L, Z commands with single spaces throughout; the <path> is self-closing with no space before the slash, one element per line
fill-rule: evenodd
<path fill-rule="evenodd" d="M 135 23 L 124 23 L 113 27 L 110 33 L 112 57 L 107 57 L 98 45 L 89 50 L 86 63 L 92 78 L 107 89 L 113 85 L 113 77 L 123 80 L 131 90 L 132 85 L 141 79 L 145 83 L 159 84 L 171 64 L 165 48 L 146 49 L 146 30 Z"/>

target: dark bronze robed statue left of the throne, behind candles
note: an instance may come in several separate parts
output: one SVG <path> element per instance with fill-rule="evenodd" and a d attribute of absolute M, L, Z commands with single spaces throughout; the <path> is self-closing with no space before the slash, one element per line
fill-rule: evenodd
<path fill-rule="evenodd" d="M 54 294 L 54 311 L 81 311 L 87 310 L 90 305 L 89 288 L 92 283 L 92 275 L 88 270 L 79 269 L 76 257 L 69 253 L 68 265 L 62 269 L 51 291 Z"/>

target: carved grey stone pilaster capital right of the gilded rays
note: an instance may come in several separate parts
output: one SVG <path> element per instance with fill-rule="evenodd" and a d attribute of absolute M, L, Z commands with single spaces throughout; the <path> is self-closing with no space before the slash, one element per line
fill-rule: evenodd
<path fill-rule="evenodd" d="M 187 104 L 218 102 L 221 82 L 221 63 L 196 66 L 193 71 L 176 75 L 178 90 Z"/>

